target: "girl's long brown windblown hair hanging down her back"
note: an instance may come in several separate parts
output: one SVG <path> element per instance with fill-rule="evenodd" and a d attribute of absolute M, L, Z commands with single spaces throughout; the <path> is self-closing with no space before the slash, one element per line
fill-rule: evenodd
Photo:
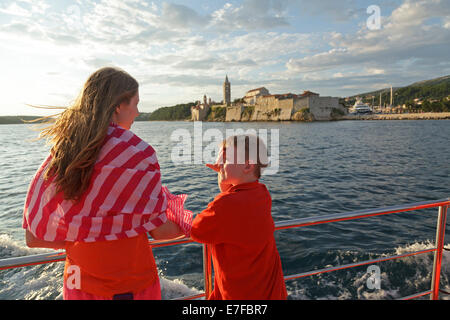
<path fill-rule="evenodd" d="M 138 87 L 125 71 L 101 68 L 86 81 L 75 103 L 41 131 L 39 137 L 52 146 L 44 179 L 55 177 L 57 192 L 65 199 L 79 200 L 89 187 L 114 111 L 129 103 Z"/>

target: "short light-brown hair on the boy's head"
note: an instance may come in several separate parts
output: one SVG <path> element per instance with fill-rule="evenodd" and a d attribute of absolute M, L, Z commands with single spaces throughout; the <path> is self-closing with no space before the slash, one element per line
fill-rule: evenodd
<path fill-rule="evenodd" d="M 230 136 L 222 141 L 221 146 L 226 149 L 233 146 L 234 148 L 231 150 L 237 150 L 237 157 L 233 157 L 237 159 L 237 163 L 243 164 L 248 161 L 250 164 L 255 164 L 256 169 L 254 173 L 258 179 L 261 177 L 262 169 L 269 164 L 266 144 L 256 135 Z"/>

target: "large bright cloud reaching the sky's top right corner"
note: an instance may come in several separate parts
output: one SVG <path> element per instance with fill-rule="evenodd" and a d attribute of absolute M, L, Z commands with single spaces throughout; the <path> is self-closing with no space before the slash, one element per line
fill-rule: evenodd
<path fill-rule="evenodd" d="M 450 32 L 440 24 L 427 23 L 449 14 L 448 1 L 406 0 L 384 20 L 381 30 L 369 31 L 364 26 L 355 34 L 334 34 L 330 40 L 333 49 L 290 59 L 286 67 L 291 73 L 358 65 L 377 70 L 416 58 L 415 67 L 433 61 L 449 68 Z"/>

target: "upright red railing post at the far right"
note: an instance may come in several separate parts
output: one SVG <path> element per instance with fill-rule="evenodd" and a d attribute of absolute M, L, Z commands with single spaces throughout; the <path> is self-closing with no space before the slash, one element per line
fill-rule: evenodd
<path fill-rule="evenodd" d="M 439 282 L 441 279 L 442 252 L 444 250 L 445 222 L 448 206 L 440 206 L 436 226 L 436 251 L 434 252 L 433 277 L 431 280 L 431 300 L 439 299 Z"/>

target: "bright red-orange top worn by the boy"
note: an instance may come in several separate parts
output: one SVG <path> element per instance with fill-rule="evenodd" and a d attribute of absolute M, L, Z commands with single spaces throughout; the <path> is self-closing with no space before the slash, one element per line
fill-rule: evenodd
<path fill-rule="evenodd" d="M 256 181 L 220 193 L 195 217 L 192 239 L 212 245 L 214 291 L 208 299 L 286 299 L 271 206 L 269 191 Z"/>

